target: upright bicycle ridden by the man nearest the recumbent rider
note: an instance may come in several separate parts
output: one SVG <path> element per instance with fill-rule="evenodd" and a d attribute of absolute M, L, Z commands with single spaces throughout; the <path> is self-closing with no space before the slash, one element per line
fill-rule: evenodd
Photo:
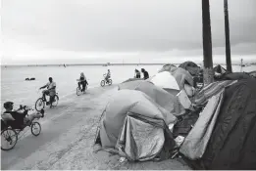
<path fill-rule="evenodd" d="M 51 103 L 50 103 L 50 100 L 51 100 Z M 43 109 L 45 106 L 48 106 L 48 105 L 50 105 L 50 108 L 57 107 L 58 102 L 59 102 L 58 93 L 56 93 L 54 96 L 50 97 L 49 101 L 47 101 L 46 98 L 44 98 L 43 94 L 42 94 L 42 97 L 38 98 L 36 100 L 34 107 L 37 111 L 40 111 L 41 109 Z"/>

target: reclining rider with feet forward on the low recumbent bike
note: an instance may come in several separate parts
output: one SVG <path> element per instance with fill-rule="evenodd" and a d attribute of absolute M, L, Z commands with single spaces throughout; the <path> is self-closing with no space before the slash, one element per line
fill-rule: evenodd
<path fill-rule="evenodd" d="M 13 121 L 16 126 L 23 126 L 27 123 L 31 123 L 34 118 L 40 118 L 44 116 L 44 113 L 33 112 L 27 115 L 26 106 L 20 106 L 20 108 L 14 110 L 13 102 L 4 103 L 4 107 L 6 111 L 2 114 L 3 121 Z M 24 110 L 21 112 L 21 110 Z"/>

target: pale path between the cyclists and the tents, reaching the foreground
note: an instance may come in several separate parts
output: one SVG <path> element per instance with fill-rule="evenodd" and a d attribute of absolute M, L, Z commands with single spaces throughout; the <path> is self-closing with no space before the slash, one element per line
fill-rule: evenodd
<path fill-rule="evenodd" d="M 93 152 L 99 117 L 117 91 L 117 85 L 92 88 L 79 97 L 61 99 L 58 107 L 46 107 L 45 117 L 39 120 L 41 134 L 33 137 L 28 130 L 15 149 L 2 150 L 1 169 L 189 169 L 180 159 L 120 163 L 119 155 Z"/>

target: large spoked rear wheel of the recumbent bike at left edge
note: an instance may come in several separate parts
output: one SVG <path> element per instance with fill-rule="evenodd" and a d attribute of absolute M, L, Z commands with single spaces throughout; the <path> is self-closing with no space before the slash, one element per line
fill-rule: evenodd
<path fill-rule="evenodd" d="M 18 135 L 12 128 L 1 132 L 1 150 L 12 150 L 18 141 Z"/>

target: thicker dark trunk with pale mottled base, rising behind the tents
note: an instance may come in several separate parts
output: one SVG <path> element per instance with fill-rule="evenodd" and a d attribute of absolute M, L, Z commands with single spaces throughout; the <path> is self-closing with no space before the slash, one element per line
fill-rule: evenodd
<path fill-rule="evenodd" d="M 204 84 L 214 81 L 212 58 L 212 32 L 209 0 L 202 0 Z"/>

